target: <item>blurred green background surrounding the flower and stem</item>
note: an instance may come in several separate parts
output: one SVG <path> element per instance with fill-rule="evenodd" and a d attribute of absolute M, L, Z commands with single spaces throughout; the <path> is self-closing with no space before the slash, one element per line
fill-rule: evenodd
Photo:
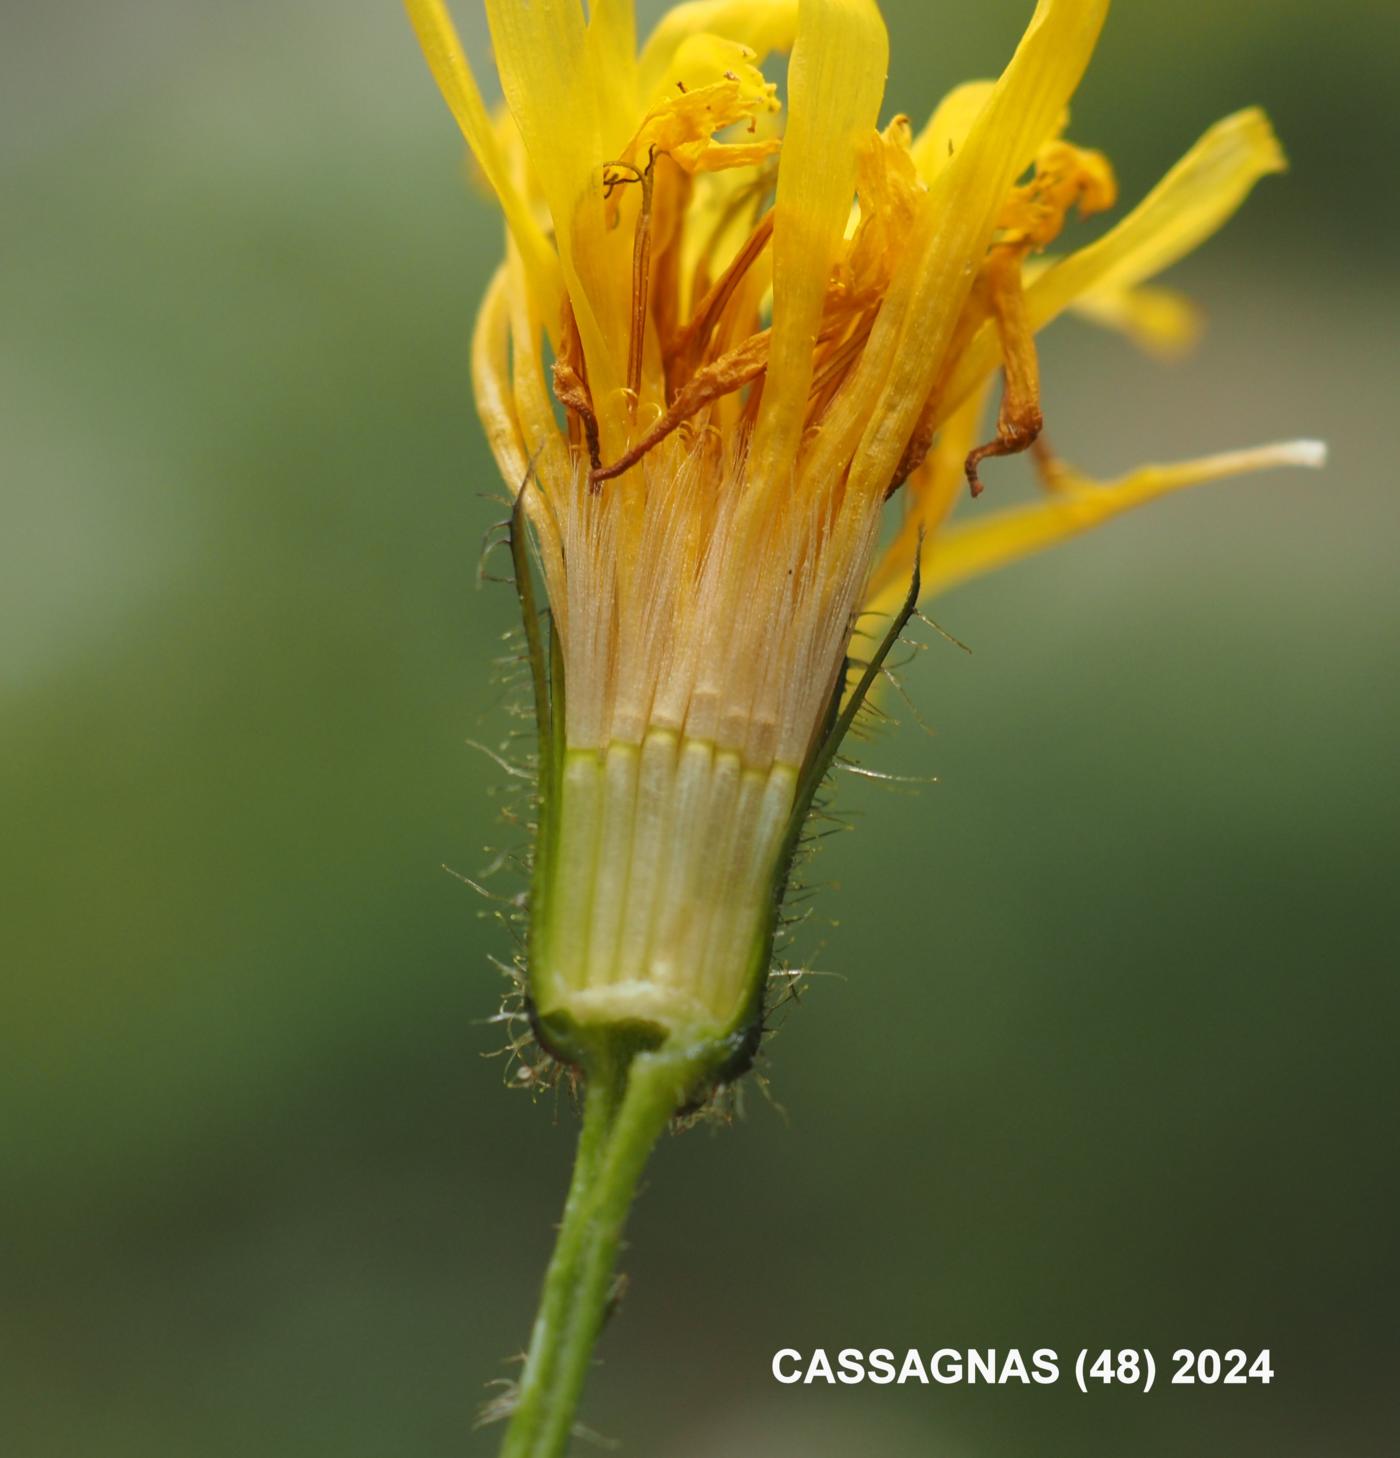
<path fill-rule="evenodd" d="M 1028 10 L 887 0 L 891 99 L 995 71 Z M 508 946 L 439 869 L 500 841 L 464 745 L 513 618 L 474 589 L 497 223 L 389 0 L 0 16 L 0 1446 L 490 1452 L 573 1131 L 483 1057 Z M 1248 102 L 1294 172 L 1177 270 L 1189 364 L 1053 331 L 1051 437 L 1333 465 L 938 605 L 974 653 L 933 640 L 935 736 L 866 763 L 939 783 L 840 786 L 786 1118 L 751 1089 L 639 1206 L 585 1408 L 624 1452 L 1397 1451 L 1397 19 L 1110 17 L 1073 134 L 1126 200 Z M 1278 1376 L 773 1384 L 818 1344 Z"/>

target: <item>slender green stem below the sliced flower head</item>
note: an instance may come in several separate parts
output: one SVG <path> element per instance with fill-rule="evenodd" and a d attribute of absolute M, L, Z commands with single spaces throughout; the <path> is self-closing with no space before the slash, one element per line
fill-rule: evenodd
<path fill-rule="evenodd" d="M 573 1180 L 500 1458 L 566 1451 L 637 1181 L 712 1061 L 710 1048 L 661 1048 L 605 1063 L 589 1077 Z"/>

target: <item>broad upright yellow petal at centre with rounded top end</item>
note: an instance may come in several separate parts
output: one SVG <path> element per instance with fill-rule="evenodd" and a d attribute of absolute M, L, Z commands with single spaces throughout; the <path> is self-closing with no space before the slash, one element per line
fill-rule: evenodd
<path fill-rule="evenodd" d="M 773 204 L 773 341 L 750 456 L 750 478 L 764 487 L 782 488 L 796 458 L 827 278 L 888 60 L 874 0 L 802 0 Z"/>

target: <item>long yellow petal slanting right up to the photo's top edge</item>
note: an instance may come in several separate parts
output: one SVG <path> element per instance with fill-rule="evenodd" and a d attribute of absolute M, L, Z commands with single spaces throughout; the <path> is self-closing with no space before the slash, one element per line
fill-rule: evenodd
<path fill-rule="evenodd" d="M 856 378 L 809 456 L 822 480 L 850 459 L 856 499 L 884 494 L 944 366 L 973 277 L 1016 176 L 1051 136 L 1104 22 L 1108 0 L 1040 0 L 964 144 L 929 188 L 909 254 Z"/>

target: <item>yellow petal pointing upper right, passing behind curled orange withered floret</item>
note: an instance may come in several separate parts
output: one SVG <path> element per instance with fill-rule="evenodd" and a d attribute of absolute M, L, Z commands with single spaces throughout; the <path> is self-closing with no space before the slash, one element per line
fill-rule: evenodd
<path fill-rule="evenodd" d="M 1216 122 L 1116 227 L 1035 278 L 1025 292 L 1031 328 L 1043 330 L 1091 292 L 1121 295 L 1171 267 L 1221 227 L 1260 178 L 1285 166 L 1257 108 Z M 996 332 L 981 330 L 954 370 L 944 411 L 955 410 L 999 357 Z"/>

